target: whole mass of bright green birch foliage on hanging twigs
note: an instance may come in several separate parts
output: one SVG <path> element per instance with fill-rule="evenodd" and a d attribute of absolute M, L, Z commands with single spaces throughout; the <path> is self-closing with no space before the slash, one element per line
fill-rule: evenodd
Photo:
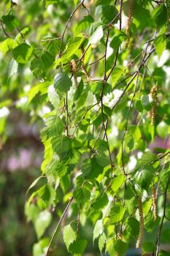
<path fill-rule="evenodd" d="M 169 1 L 134 1 L 128 34 L 129 1 L 20 0 L 1 6 L 7 12 L 1 15 L 0 50 L 12 57 L 8 77 L 28 72 L 31 89 L 19 97 L 28 97 L 32 120 L 45 123 L 42 176 L 29 190 L 39 179 L 45 184 L 26 204 L 39 239 L 34 255 L 50 254 L 61 222 L 68 252 L 82 255 L 87 247 L 82 230 L 89 220 L 101 254 L 125 255 L 141 238 L 142 253 L 168 255 L 160 244 L 167 241 L 170 217 L 169 146 L 163 144 L 170 132 L 170 63 L 164 61 L 170 48 Z M 5 99 L 1 107 L 13 103 Z M 67 204 L 63 212 L 61 202 Z M 58 225 L 52 238 L 42 238 L 53 212 Z"/>

